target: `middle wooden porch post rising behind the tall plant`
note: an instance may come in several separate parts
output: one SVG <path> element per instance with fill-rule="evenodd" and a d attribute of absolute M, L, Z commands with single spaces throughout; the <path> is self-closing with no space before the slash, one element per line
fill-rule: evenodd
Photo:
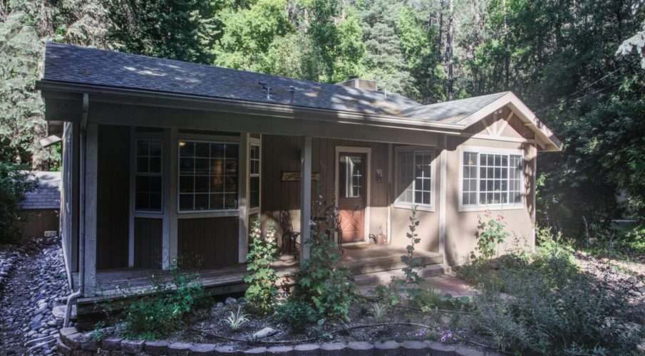
<path fill-rule="evenodd" d="M 306 241 L 311 238 L 311 136 L 302 137 L 300 179 L 300 260 L 309 258 L 309 245 Z"/>

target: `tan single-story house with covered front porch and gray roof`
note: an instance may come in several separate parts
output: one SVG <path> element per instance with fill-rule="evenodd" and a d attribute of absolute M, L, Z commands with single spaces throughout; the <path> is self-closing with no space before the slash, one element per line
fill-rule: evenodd
<path fill-rule="evenodd" d="M 296 266 L 320 197 L 340 211 L 334 236 L 357 273 L 394 266 L 413 206 L 428 263 L 468 261 L 485 209 L 505 216 L 504 248 L 533 246 L 536 157 L 562 148 L 510 92 L 422 105 L 371 80 L 58 43 L 37 87 L 49 134 L 63 139 L 62 236 L 80 300 L 175 258 L 200 266 L 207 287 L 234 290 L 257 214 L 285 235 L 287 255 L 297 250 L 281 260 Z"/>

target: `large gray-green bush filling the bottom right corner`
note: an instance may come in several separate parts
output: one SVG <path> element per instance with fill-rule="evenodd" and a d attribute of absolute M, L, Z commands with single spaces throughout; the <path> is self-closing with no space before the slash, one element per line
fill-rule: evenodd
<path fill-rule="evenodd" d="M 572 250 L 552 242 L 527 258 L 507 256 L 500 260 L 500 283 L 480 283 L 475 331 L 517 352 L 634 352 L 645 335 L 644 309 L 631 303 L 632 282 L 609 278 L 608 266 L 599 268 L 600 278 L 582 273 Z"/>

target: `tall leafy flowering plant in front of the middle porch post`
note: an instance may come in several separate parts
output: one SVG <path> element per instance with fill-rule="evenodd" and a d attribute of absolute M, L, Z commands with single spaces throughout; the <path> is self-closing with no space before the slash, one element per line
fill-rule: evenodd
<path fill-rule="evenodd" d="M 316 200 L 314 204 L 316 209 L 311 209 L 312 211 L 322 210 L 321 201 Z M 326 220 L 335 219 L 329 216 Z M 316 310 L 320 323 L 326 318 L 349 320 L 349 306 L 356 289 L 351 281 L 349 268 L 339 266 L 336 244 L 321 231 L 319 223 L 310 221 L 309 224 L 311 239 L 306 241 L 310 248 L 309 258 L 300 261 L 294 290 L 289 298 L 311 305 Z"/>

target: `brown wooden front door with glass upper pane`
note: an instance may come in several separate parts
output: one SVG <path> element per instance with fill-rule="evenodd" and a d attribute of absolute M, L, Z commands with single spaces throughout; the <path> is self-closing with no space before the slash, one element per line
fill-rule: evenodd
<path fill-rule="evenodd" d="M 339 154 L 339 211 L 343 242 L 365 241 L 366 154 Z"/>

